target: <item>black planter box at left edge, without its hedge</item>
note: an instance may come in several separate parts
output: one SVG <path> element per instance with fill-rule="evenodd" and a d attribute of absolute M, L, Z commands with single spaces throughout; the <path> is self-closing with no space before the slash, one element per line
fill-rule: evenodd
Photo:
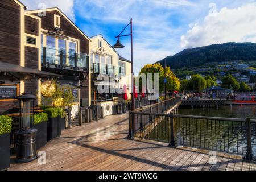
<path fill-rule="evenodd" d="M 10 167 L 10 133 L 0 135 L 0 170 Z"/>

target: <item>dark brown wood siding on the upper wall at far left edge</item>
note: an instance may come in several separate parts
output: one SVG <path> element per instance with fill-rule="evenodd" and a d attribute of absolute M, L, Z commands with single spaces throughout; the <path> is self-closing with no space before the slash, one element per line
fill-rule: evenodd
<path fill-rule="evenodd" d="M 20 65 L 20 6 L 0 1 L 0 61 Z"/>

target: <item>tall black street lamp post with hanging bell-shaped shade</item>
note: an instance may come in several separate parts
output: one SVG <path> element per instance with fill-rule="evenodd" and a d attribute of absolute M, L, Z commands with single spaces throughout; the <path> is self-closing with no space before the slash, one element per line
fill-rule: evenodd
<path fill-rule="evenodd" d="M 123 31 L 126 30 L 126 28 L 130 25 L 130 34 L 126 34 L 126 35 L 122 35 Z M 131 80 L 133 81 L 133 84 L 131 86 L 133 86 L 133 88 L 131 90 L 133 90 L 133 93 L 131 94 L 131 110 L 135 110 L 135 102 L 134 102 L 134 78 L 133 78 L 133 19 L 130 19 L 130 22 L 127 24 L 127 26 L 125 28 L 123 28 L 123 30 L 121 31 L 121 33 L 116 36 L 115 38 L 117 38 L 117 43 L 114 44 L 114 48 L 124 48 L 125 46 L 123 46 L 119 40 L 119 38 L 123 37 L 123 36 L 130 36 L 131 37 Z M 134 118 L 131 118 L 134 121 Z M 130 128 L 130 123 L 129 123 L 129 138 L 131 138 L 131 128 Z M 134 130 L 133 126 L 133 130 Z"/>

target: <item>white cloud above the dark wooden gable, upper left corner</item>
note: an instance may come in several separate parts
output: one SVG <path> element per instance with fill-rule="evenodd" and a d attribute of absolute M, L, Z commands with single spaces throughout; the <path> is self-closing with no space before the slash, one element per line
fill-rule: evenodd
<path fill-rule="evenodd" d="M 75 13 L 73 9 L 74 0 L 21 0 L 28 10 L 42 9 L 42 3 L 49 7 L 59 7 L 65 15 L 75 22 Z"/>

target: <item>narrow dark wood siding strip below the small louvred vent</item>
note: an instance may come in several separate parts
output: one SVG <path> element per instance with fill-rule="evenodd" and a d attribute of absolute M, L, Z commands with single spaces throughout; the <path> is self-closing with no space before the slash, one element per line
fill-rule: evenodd
<path fill-rule="evenodd" d="M 38 48 L 25 47 L 25 67 L 38 69 Z M 31 92 L 36 96 L 38 94 L 38 79 L 26 80 L 25 92 Z M 36 100 L 35 105 L 37 104 Z"/>

